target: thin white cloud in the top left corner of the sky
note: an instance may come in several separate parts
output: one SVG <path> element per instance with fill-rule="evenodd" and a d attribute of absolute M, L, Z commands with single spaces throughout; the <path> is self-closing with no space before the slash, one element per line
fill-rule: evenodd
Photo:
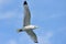
<path fill-rule="evenodd" d="M 0 0 L 0 11 L 4 9 L 4 7 L 14 6 L 15 0 Z"/>

